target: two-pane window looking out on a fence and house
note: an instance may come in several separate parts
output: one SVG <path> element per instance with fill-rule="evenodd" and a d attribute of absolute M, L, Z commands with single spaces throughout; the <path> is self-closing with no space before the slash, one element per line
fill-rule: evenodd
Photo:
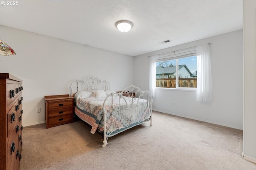
<path fill-rule="evenodd" d="M 175 58 L 176 59 L 172 60 L 157 60 L 156 87 L 196 88 L 196 54 L 193 53 L 190 55 L 186 55 L 186 57 L 178 56 Z"/>

